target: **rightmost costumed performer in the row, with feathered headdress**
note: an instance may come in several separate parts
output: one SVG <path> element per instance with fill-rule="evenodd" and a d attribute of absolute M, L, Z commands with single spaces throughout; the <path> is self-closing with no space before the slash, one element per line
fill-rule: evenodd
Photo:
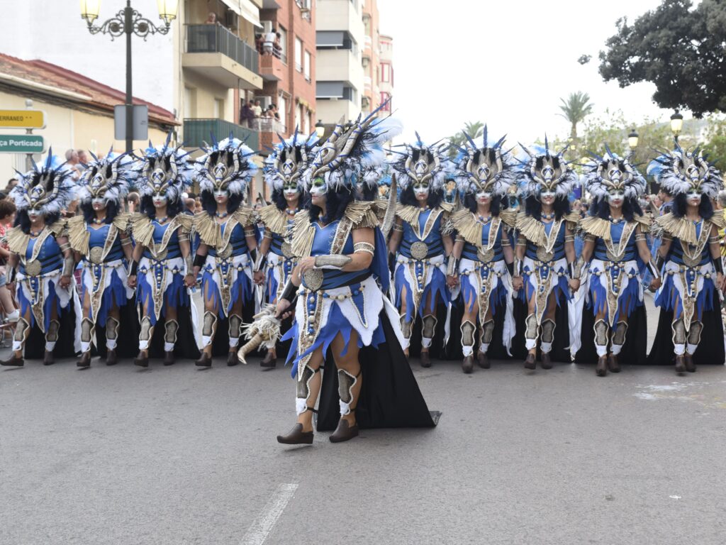
<path fill-rule="evenodd" d="M 718 230 L 725 221 L 722 214 L 714 214 L 711 202 L 723 187 L 721 173 L 698 150 L 684 150 L 676 142 L 675 150 L 650 163 L 648 174 L 674 196 L 671 211 L 653 226 L 653 233 L 662 240 L 658 263 L 663 264 L 663 283 L 656 292 L 656 305 L 664 312 L 649 360 L 671 360 L 672 355 L 663 349 L 672 340 L 675 371 L 693 373 L 702 338 L 707 339 L 707 350 L 699 350 L 704 356 L 701 361 L 724 361 L 718 297 L 724 275 Z M 671 339 L 663 334 L 666 325 Z"/>

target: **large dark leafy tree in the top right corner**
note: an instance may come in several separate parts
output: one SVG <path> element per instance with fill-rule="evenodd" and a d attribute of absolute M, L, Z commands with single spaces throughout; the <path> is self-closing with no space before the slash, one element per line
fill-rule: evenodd
<path fill-rule="evenodd" d="M 687 108 L 696 117 L 726 110 L 726 2 L 664 0 L 628 24 L 600 52 L 600 76 L 621 87 L 640 81 L 656 85 L 661 108 Z"/>

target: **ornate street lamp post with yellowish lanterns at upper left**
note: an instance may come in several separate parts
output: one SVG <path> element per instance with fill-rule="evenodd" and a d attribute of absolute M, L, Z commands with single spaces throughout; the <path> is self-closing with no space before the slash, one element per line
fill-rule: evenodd
<path fill-rule="evenodd" d="M 126 0 L 126 7 L 119 10 L 115 17 L 106 20 L 102 25 L 94 25 L 98 18 L 101 0 L 81 0 L 81 17 L 88 23 L 91 34 L 109 34 L 111 39 L 126 34 L 126 153 L 134 149 L 134 95 L 131 78 L 131 35 L 136 34 L 146 40 L 149 34 L 166 34 L 171 28 L 171 21 L 176 19 L 179 0 L 157 0 L 159 17 L 163 26 L 156 26 L 151 20 L 143 17 L 131 7 L 131 0 Z"/>

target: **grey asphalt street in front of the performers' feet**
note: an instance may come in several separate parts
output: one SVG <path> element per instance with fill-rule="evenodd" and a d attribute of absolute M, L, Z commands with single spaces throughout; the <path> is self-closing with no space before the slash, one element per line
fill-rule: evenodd
<path fill-rule="evenodd" d="M 255 359 L 2 369 L 0 544 L 725 543 L 723 366 L 412 368 L 436 429 L 303 448 Z"/>

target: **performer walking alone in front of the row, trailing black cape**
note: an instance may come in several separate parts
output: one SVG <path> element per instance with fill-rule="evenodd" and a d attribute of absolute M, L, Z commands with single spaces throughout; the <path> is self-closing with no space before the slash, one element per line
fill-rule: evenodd
<path fill-rule="evenodd" d="M 386 242 L 375 203 L 355 200 L 362 170 L 383 161 L 381 144 L 400 130 L 392 118 L 377 120 L 377 113 L 347 130 L 342 121 L 335 126 L 303 175 L 311 200 L 295 217 L 299 262 L 277 303 L 282 314 L 296 299 L 286 337 L 293 340 L 288 360 L 297 379 L 298 424 L 277 437 L 280 443 L 312 443 L 321 389 L 317 427 L 335 427 L 333 443 L 356 437 L 359 427 L 434 425 L 400 348 L 398 312 L 384 295 Z M 395 187 L 391 195 L 384 232 L 393 224 Z M 321 378 L 329 349 L 333 361 Z"/>

